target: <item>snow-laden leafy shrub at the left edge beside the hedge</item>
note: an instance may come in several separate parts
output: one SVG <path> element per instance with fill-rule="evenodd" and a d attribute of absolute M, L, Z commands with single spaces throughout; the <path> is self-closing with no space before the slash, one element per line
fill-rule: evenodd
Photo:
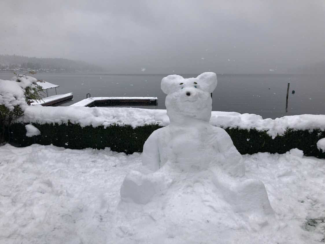
<path fill-rule="evenodd" d="M 0 142 L 4 141 L 5 127 L 24 113 L 26 106 L 29 105 L 28 99 L 42 99 L 40 96 L 42 87 L 36 83 L 37 81 L 34 77 L 16 73 L 11 80 L 0 80 Z"/>

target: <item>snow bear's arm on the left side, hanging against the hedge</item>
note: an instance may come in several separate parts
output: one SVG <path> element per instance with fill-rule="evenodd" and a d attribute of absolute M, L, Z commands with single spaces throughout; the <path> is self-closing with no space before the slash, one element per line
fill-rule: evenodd
<path fill-rule="evenodd" d="M 141 155 L 142 164 L 153 172 L 160 168 L 158 130 L 155 130 L 153 133 L 151 133 L 151 135 L 149 135 L 148 139 L 143 145 L 143 152 Z"/>

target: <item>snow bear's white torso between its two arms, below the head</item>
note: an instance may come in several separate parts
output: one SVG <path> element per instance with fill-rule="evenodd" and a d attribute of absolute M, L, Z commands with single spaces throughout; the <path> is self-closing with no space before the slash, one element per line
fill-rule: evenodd
<path fill-rule="evenodd" d="M 161 167 L 169 166 L 180 171 L 195 172 L 207 169 L 218 159 L 218 130 L 207 122 L 193 126 L 168 125 L 160 129 L 158 148 Z"/>

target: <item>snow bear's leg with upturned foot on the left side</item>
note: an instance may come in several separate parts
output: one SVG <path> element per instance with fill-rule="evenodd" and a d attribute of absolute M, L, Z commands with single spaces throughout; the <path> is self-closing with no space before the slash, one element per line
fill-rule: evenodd
<path fill-rule="evenodd" d="M 170 183 L 171 180 L 166 179 L 165 174 L 160 172 L 143 174 L 131 171 L 123 180 L 121 199 L 125 202 L 146 204 L 154 195 L 162 194 Z"/>

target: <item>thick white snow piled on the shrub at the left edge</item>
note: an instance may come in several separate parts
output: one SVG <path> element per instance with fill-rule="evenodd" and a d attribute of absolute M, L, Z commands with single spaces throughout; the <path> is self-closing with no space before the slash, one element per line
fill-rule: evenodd
<path fill-rule="evenodd" d="M 16 82 L 16 80 L 20 82 Z M 32 87 L 33 82 L 37 79 L 31 76 L 14 76 L 12 80 L 0 80 L 0 105 L 4 105 L 10 111 L 14 110 L 14 106 L 20 106 L 24 110 L 27 106 L 24 89 L 28 86 Z"/>

